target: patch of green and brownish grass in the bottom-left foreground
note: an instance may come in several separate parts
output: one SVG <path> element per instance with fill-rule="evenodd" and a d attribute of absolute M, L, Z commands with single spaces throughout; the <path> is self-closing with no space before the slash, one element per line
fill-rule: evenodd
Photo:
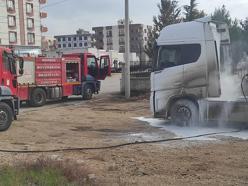
<path fill-rule="evenodd" d="M 94 185 L 84 167 L 71 161 L 39 158 L 0 169 L 0 186 Z"/>

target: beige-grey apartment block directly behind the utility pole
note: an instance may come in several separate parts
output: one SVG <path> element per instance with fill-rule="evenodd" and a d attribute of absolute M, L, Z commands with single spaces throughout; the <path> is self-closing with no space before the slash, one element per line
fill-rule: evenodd
<path fill-rule="evenodd" d="M 130 52 L 136 53 L 141 61 L 147 59 L 144 48 L 151 29 L 151 26 L 144 24 L 130 24 Z M 97 49 L 125 53 L 124 20 L 119 20 L 118 25 L 94 27 L 92 30 L 95 32 L 94 38 Z"/>

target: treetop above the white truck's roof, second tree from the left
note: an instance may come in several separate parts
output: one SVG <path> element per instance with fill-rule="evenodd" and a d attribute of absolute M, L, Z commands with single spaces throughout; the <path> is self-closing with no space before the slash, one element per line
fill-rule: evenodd
<path fill-rule="evenodd" d="M 196 0 L 190 0 L 190 5 L 184 5 L 184 21 L 193 21 L 206 16 L 203 10 L 197 9 L 197 5 Z"/>

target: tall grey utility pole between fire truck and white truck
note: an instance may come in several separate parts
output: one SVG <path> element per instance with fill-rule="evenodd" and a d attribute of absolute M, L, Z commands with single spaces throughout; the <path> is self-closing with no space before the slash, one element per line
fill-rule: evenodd
<path fill-rule="evenodd" d="M 125 0 L 125 96 L 130 98 L 130 35 L 129 35 L 129 0 Z"/>

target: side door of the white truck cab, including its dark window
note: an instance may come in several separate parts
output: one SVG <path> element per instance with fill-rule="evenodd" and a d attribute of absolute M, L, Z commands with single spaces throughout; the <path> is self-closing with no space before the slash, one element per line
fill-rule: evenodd
<path fill-rule="evenodd" d="M 160 46 L 154 72 L 151 75 L 153 106 L 156 112 L 165 108 L 172 95 L 183 87 L 183 65 L 180 45 Z"/>

